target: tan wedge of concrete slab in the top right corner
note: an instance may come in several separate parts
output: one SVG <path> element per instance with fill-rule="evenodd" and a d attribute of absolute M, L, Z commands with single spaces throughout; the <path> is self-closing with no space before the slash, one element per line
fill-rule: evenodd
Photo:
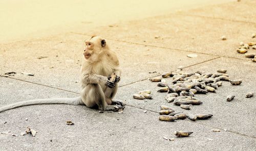
<path fill-rule="evenodd" d="M 197 15 L 212 18 L 222 18 L 233 21 L 243 21 L 248 23 L 256 23 L 255 9 L 251 6 L 256 6 L 256 1 L 243 0 L 240 2 L 234 1 L 225 5 L 212 5 L 208 7 L 191 9 L 188 11 L 180 11 L 180 14 Z"/>

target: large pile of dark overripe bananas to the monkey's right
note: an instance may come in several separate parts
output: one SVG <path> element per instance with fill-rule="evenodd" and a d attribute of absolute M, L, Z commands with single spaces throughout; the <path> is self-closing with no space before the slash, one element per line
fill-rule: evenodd
<path fill-rule="evenodd" d="M 203 71 L 188 73 L 182 71 L 182 69 L 178 69 L 176 72 L 163 73 L 161 77 L 155 77 L 148 80 L 158 82 L 157 86 L 161 87 L 158 92 L 167 93 L 165 99 L 168 103 L 173 102 L 174 105 L 180 106 L 182 109 L 190 110 L 191 106 L 202 104 L 202 102 L 195 97 L 195 94 L 215 93 L 216 89 L 222 86 L 222 81 L 229 81 L 232 85 L 240 85 L 242 83 L 242 80 L 230 80 L 226 71 L 226 69 L 219 69 L 216 73 L 207 73 Z M 167 84 L 163 78 L 172 78 L 172 83 Z M 233 97 L 234 96 L 232 96 L 232 98 L 227 98 L 227 101 L 231 101 Z M 160 109 L 159 120 L 164 121 L 175 121 L 177 119 L 185 118 L 195 121 L 198 119 L 208 119 L 213 116 L 208 113 L 194 115 L 175 112 L 168 106 L 160 106 Z"/>

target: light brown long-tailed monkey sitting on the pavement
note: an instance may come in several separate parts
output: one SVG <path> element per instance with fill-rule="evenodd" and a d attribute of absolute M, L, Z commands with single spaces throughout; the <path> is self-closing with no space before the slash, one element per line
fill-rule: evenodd
<path fill-rule="evenodd" d="M 124 108 L 124 104 L 113 100 L 118 90 L 121 70 L 119 60 L 106 40 L 99 36 L 92 36 L 85 41 L 85 49 L 82 53 L 80 68 L 81 93 L 74 98 L 45 98 L 25 100 L 0 107 L 0 112 L 29 105 L 41 104 L 69 104 L 85 105 L 88 108 L 98 110 L 118 111 Z M 116 78 L 111 81 L 111 74 Z"/>

